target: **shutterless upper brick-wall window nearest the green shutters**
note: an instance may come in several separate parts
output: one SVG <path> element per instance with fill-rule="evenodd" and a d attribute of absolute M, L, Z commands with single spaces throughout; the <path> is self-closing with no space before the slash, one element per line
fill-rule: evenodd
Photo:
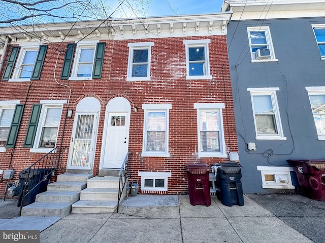
<path fill-rule="evenodd" d="M 151 47 L 153 42 L 129 43 L 127 81 L 150 80 Z"/>

